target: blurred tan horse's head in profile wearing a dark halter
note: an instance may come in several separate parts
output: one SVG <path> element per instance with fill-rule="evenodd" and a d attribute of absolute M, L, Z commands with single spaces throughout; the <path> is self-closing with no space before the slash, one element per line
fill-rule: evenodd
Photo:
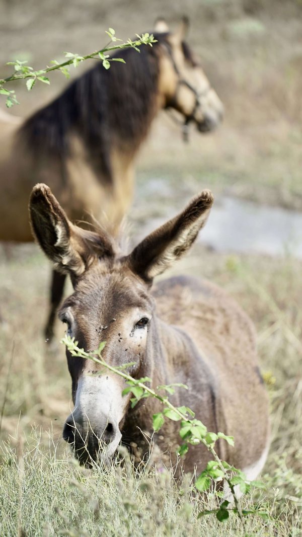
<path fill-rule="evenodd" d="M 175 108 L 184 116 L 184 125 L 195 122 L 200 132 L 219 125 L 224 106 L 211 87 L 195 54 L 185 42 L 188 20 L 169 32 L 166 21 L 155 23 L 154 36 L 161 47 L 160 96 L 164 107 Z"/>

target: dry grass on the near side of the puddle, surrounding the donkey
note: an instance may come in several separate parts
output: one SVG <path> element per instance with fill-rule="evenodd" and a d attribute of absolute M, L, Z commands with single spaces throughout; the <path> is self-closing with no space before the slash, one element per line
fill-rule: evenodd
<path fill-rule="evenodd" d="M 240 527 L 233 517 L 223 528 L 211 517 L 199 523 L 198 511 L 212 505 L 213 498 L 200 500 L 197 505 L 189 487 L 184 500 L 170 478 L 159 484 L 160 476 L 144 474 L 135 478 L 131 469 L 123 478 L 114 469 L 104 472 L 95 469 L 81 477 L 81 471 L 71 464 L 60 440 L 70 404 L 64 350 L 59 347 L 55 352 L 46 352 L 40 336 L 45 317 L 47 263 L 32 246 L 26 251 L 13 251 L 10 262 L 2 258 L 0 267 L 2 282 L 6 282 L 0 296 L 6 319 L 0 336 L 5 357 L 0 376 L 1 394 L 5 392 L 14 343 L 1 431 L 2 440 L 9 440 L 10 446 L 2 444 L 0 454 L 0 497 L 3 505 L 9 506 L 11 516 L 3 518 L 1 534 L 15 535 L 19 520 L 26 535 L 57 535 L 60 528 L 70 530 L 71 526 L 80 528 L 77 529 L 80 533 L 74 535 L 85 535 L 84 531 L 88 535 L 98 535 L 100 531 L 111 535 L 113 527 L 120 528 L 121 535 L 140 535 L 144 527 L 147 535 L 214 536 L 226 531 L 228 535 L 240 535 Z M 266 506 L 274 518 L 266 524 L 252 517 L 248 529 L 256 535 L 300 535 L 300 263 L 290 258 L 217 255 L 197 246 L 175 271 L 203 274 L 216 281 L 232 293 L 256 323 L 261 369 L 270 390 L 272 444 L 263 476 L 267 490 L 262 492 L 260 500 L 254 495 L 254 500 Z M 4 301 L 4 296 L 10 300 Z M 60 330 L 62 333 L 63 328 L 58 333 Z M 80 484 L 72 484 L 74 480 Z M 156 487 L 159 494 L 156 516 L 151 508 L 146 509 L 152 501 L 141 490 L 145 486 L 150 490 Z M 123 502 L 127 498 L 132 503 L 129 506 L 126 502 L 125 510 Z M 99 502 L 99 518 L 94 512 L 95 500 Z M 70 523 L 55 514 L 55 507 Z M 169 529 L 170 524 L 174 529 Z M 45 528 L 48 533 L 43 533 Z"/>

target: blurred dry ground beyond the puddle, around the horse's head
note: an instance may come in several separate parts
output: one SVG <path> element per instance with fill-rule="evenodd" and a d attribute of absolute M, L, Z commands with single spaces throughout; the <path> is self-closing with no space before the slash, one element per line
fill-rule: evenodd
<path fill-rule="evenodd" d="M 270 205 L 302 208 L 302 4 L 300 0 L 88 0 L 64 3 L 25 0 L 0 3 L 0 68 L 27 59 L 34 68 L 62 59 L 67 50 L 88 54 L 105 45 L 109 26 L 121 39 L 152 31 L 158 16 L 171 29 L 183 14 L 190 18 L 188 42 L 225 104 L 225 122 L 217 132 L 191 134 L 190 144 L 162 113 L 139 162 L 139 175 L 207 177 L 217 192 Z M 81 69 L 87 69 L 84 62 Z M 78 76 L 80 70 L 74 70 Z M 66 85 L 54 73 L 51 86 L 28 93 L 16 84 L 20 105 L 13 114 L 28 115 Z M 193 129 L 192 129 L 193 130 Z"/>

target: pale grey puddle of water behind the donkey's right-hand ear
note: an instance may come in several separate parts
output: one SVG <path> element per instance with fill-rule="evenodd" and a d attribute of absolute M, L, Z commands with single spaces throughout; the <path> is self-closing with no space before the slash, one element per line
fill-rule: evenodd
<path fill-rule="evenodd" d="M 189 200 L 198 187 L 189 190 L 158 178 L 141 185 L 130 219 L 135 243 L 174 216 L 183 207 L 181 200 Z M 290 253 L 302 259 L 302 213 L 232 197 L 216 198 L 198 242 L 218 252 Z"/>

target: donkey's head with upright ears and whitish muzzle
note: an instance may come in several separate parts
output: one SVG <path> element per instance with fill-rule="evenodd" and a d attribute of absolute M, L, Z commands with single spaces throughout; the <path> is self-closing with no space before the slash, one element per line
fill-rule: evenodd
<path fill-rule="evenodd" d="M 157 274 L 191 246 L 212 202 L 212 194 L 203 191 L 130 255 L 120 256 L 102 231 L 92 233 L 74 226 L 46 185 L 34 187 L 30 199 L 33 233 L 55 268 L 70 274 L 74 292 L 63 303 L 59 317 L 80 347 L 93 351 L 105 341 L 102 355 L 107 364 L 129 364 L 134 378 L 152 377 L 156 317 L 150 286 Z M 66 420 L 63 438 L 73 444 L 81 462 L 89 464 L 99 453 L 110 458 L 128 411 L 130 395 L 122 396 L 125 382 L 68 351 L 67 360 L 75 408 Z"/>

